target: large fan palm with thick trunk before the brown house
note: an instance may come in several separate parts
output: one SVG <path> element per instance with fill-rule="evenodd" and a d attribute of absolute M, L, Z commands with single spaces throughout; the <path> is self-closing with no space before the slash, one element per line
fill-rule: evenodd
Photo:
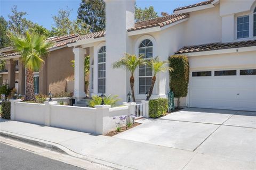
<path fill-rule="evenodd" d="M 26 67 L 26 92 L 25 100 L 35 100 L 34 71 L 38 71 L 44 63 L 44 57 L 49 54 L 49 47 L 53 43 L 47 41 L 37 33 L 26 32 L 25 35 L 8 32 L 15 50 L 20 53 L 23 65 Z"/>

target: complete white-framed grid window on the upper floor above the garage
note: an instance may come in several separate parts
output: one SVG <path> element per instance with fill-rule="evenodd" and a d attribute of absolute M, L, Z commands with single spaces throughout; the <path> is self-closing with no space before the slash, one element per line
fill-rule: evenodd
<path fill-rule="evenodd" d="M 237 39 L 249 37 L 249 15 L 237 17 Z"/>

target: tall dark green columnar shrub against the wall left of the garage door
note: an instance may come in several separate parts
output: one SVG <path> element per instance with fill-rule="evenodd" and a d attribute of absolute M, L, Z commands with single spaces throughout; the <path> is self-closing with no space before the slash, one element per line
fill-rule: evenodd
<path fill-rule="evenodd" d="M 170 89 L 174 93 L 174 97 L 186 97 L 188 94 L 189 81 L 189 63 L 187 56 L 173 55 L 169 57 L 170 67 L 173 71 L 170 72 Z"/>

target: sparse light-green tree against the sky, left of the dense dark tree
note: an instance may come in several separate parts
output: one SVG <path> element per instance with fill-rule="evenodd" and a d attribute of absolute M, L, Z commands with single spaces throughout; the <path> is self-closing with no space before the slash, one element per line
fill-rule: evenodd
<path fill-rule="evenodd" d="M 54 27 L 52 27 L 51 34 L 54 36 L 64 36 L 72 33 L 78 33 L 79 35 L 85 35 L 89 32 L 89 25 L 82 20 L 71 21 L 70 13 L 73 10 L 60 9 L 57 15 L 53 16 Z"/>

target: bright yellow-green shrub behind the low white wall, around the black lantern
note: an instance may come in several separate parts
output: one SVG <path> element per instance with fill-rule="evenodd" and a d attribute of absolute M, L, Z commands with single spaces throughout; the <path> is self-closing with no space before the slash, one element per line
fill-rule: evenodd
<path fill-rule="evenodd" d="M 105 105 L 111 105 L 111 107 L 115 107 L 117 101 L 119 101 L 120 99 L 117 98 L 117 95 L 114 95 L 113 97 L 111 95 L 109 95 L 108 97 L 104 98 L 104 103 Z M 89 103 L 90 107 L 94 107 L 95 105 L 100 105 L 101 104 L 101 97 L 100 96 L 93 96 L 92 100 Z"/>

